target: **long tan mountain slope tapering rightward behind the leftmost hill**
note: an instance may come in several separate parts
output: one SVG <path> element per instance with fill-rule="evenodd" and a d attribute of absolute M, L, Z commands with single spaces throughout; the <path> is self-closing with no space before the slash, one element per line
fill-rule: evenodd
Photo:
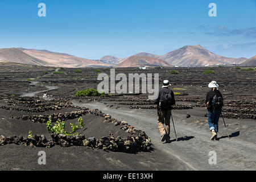
<path fill-rule="evenodd" d="M 110 64 L 101 61 L 89 60 L 66 53 L 51 52 L 47 50 L 19 48 L 22 52 L 42 60 L 52 67 L 81 68 L 81 67 L 109 67 Z"/>

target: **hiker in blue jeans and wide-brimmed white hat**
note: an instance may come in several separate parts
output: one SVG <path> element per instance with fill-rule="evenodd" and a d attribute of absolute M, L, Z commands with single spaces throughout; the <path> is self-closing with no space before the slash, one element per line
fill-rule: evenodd
<path fill-rule="evenodd" d="M 212 137 L 210 137 L 211 140 L 217 140 L 217 133 L 218 133 L 218 119 L 220 118 L 221 115 L 221 102 L 218 102 L 220 104 L 219 106 L 214 103 L 214 99 L 217 100 L 218 97 L 220 97 L 220 100 L 222 101 L 223 104 L 223 97 L 218 90 L 218 84 L 216 81 L 212 81 L 208 84 L 209 88 L 212 88 L 207 93 L 207 97 L 205 100 L 206 104 L 206 109 L 208 109 L 208 125 L 210 127 L 210 131 L 212 132 Z M 214 97 L 216 96 L 216 97 Z"/>

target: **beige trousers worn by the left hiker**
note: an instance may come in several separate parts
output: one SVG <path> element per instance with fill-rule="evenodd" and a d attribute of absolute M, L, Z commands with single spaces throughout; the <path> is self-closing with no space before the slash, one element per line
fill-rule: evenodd
<path fill-rule="evenodd" d="M 160 131 L 161 137 L 163 134 L 170 135 L 170 118 L 171 118 L 171 110 L 159 110 L 158 111 L 158 129 Z M 164 128 L 164 125 L 166 127 Z"/>

